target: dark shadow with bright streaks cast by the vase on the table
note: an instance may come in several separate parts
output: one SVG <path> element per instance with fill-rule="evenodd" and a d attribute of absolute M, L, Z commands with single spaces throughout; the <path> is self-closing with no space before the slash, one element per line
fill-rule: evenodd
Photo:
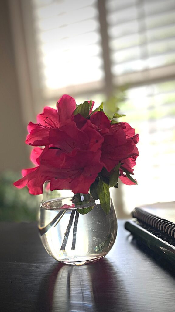
<path fill-rule="evenodd" d="M 118 310 L 127 310 L 126 293 L 106 259 L 79 267 L 54 265 L 40 285 L 35 307 L 37 312 Z"/>

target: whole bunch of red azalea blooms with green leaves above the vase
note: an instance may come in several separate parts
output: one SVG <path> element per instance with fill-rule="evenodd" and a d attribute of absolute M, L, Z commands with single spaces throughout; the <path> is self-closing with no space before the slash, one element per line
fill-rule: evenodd
<path fill-rule="evenodd" d="M 71 96 L 63 95 L 57 109 L 45 107 L 37 123 L 29 123 L 26 144 L 37 146 L 31 152 L 35 167 L 22 170 L 23 178 L 14 183 L 17 188 L 27 185 L 37 195 L 50 181 L 51 191 L 87 194 L 90 189 L 93 195 L 104 186 L 100 181 L 108 187 L 117 186 L 118 178 L 125 184 L 137 183 L 131 174 L 138 134 L 129 124 L 106 116 L 102 105 L 93 111 L 93 105 L 86 101 L 77 106 Z"/>

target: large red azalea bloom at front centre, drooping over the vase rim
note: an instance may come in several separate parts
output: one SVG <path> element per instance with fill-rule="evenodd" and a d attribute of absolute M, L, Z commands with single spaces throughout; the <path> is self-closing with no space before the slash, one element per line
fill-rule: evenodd
<path fill-rule="evenodd" d="M 45 175 L 50 177 L 50 190 L 69 189 L 73 193 L 87 194 L 102 170 L 100 156 L 101 151 L 74 149 L 66 154 L 49 149 L 41 157 L 41 167 Z"/>

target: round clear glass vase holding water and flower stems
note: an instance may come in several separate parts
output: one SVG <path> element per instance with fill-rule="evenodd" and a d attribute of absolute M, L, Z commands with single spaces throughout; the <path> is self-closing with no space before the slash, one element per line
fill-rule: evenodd
<path fill-rule="evenodd" d="M 45 190 L 43 195 L 38 227 L 50 256 L 77 266 L 106 256 L 117 235 L 112 200 L 110 212 L 106 215 L 100 201 L 94 201 L 90 195 L 74 195 L 67 190 Z"/>

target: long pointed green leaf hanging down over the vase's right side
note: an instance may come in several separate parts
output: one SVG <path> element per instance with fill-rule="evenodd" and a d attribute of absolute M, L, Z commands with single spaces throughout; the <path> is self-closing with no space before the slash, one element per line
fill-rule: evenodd
<path fill-rule="evenodd" d="M 103 178 L 100 178 L 98 183 L 98 196 L 102 209 L 106 215 L 108 215 L 111 207 L 111 197 L 109 193 L 109 184 L 107 184 Z"/>

